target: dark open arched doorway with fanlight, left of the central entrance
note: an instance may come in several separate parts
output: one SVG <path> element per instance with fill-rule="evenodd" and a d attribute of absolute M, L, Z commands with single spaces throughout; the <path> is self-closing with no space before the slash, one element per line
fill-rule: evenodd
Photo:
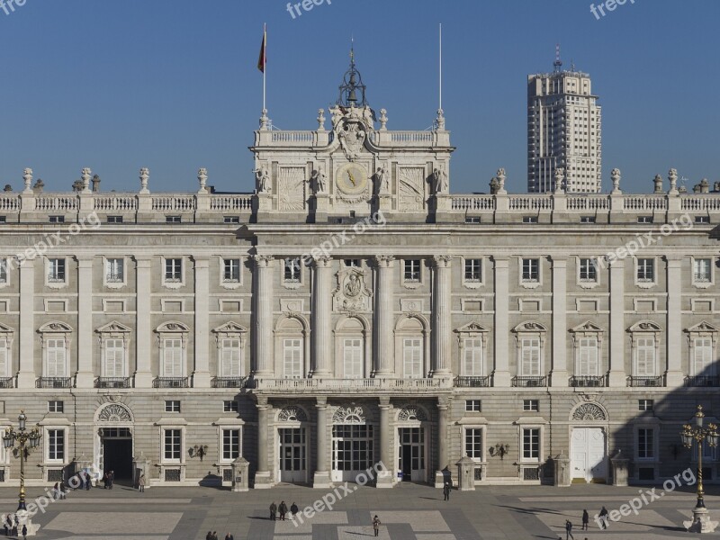
<path fill-rule="evenodd" d="M 95 463 L 118 483 L 132 483 L 133 419 L 122 403 L 105 403 L 95 413 Z"/>

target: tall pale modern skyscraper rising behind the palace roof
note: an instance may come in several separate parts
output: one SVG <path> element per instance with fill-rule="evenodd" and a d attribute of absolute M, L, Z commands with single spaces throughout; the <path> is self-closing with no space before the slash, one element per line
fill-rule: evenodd
<path fill-rule="evenodd" d="M 602 180 L 600 106 L 590 75 L 563 69 L 557 49 L 553 73 L 527 76 L 527 191 L 599 193 Z M 562 173 L 556 175 L 558 169 Z M 561 186 L 562 187 L 562 186 Z"/>

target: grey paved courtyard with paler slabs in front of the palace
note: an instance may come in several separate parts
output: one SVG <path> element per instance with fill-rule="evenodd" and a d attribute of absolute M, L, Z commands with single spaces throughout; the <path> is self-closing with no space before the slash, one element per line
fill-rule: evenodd
<path fill-rule="evenodd" d="M 475 492 L 453 491 L 445 502 L 441 491 L 427 486 L 404 484 L 394 490 L 348 487 L 352 492 L 332 510 L 303 518 L 297 524 L 269 520 L 270 503 L 284 500 L 290 507 L 295 502 L 302 510 L 329 491 L 297 486 L 247 493 L 152 488 L 141 494 L 122 486 L 112 491 L 76 491 L 69 493 L 67 500 L 51 503 L 36 518 L 42 525 L 37 538 L 204 540 L 212 530 L 220 540 L 227 532 L 237 540 L 361 540 L 374 537 L 371 524 L 375 514 L 383 522 L 379 536 L 383 540 L 556 540 L 565 538 L 565 519 L 573 522 L 574 536 L 580 540 L 700 537 L 687 534 L 681 527 L 695 503 L 692 491 L 663 493 L 637 516 L 611 522 L 607 531 L 600 531 L 592 520 L 600 507 L 620 509 L 638 496 L 641 488 L 491 486 Z M 709 487 L 707 491 L 711 516 L 720 519 L 720 490 Z M 40 494 L 40 489 L 31 488 L 28 501 Z M 0 513 L 16 508 L 15 495 L 14 490 L 0 490 Z M 590 512 L 587 532 L 580 530 L 582 509 Z M 720 538 L 720 534 L 702 537 Z"/>

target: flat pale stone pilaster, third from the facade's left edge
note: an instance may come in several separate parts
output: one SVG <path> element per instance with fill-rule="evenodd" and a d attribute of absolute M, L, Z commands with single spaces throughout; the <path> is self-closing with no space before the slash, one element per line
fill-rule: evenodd
<path fill-rule="evenodd" d="M 137 297 L 135 301 L 135 388 L 150 388 L 152 386 L 152 319 L 150 318 L 150 293 L 152 292 L 152 277 L 150 270 L 152 259 L 149 257 L 135 257 L 137 271 Z"/>

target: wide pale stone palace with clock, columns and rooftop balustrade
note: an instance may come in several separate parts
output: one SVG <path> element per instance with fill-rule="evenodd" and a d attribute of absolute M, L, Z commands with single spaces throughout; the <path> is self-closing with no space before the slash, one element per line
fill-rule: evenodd
<path fill-rule="evenodd" d="M 720 194 L 449 190 L 454 148 L 387 128 L 351 67 L 318 128 L 250 148 L 255 193 L 0 195 L 0 435 L 27 482 L 660 481 L 717 397 Z M 706 190 L 707 191 L 707 190 Z M 22 261 L 22 264 L 20 264 Z M 709 452 L 709 451 L 708 451 Z M 564 457 L 563 457 L 564 456 Z M 715 455 L 707 455 L 715 480 Z M 18 460 L 0 449 L 0 481 Z M 246 479 L 247 480 L 247 479 Z M 562 482 L 563 479 L 561 479 Z M 245 480 L 243 481 L 245 482 Z"/>

